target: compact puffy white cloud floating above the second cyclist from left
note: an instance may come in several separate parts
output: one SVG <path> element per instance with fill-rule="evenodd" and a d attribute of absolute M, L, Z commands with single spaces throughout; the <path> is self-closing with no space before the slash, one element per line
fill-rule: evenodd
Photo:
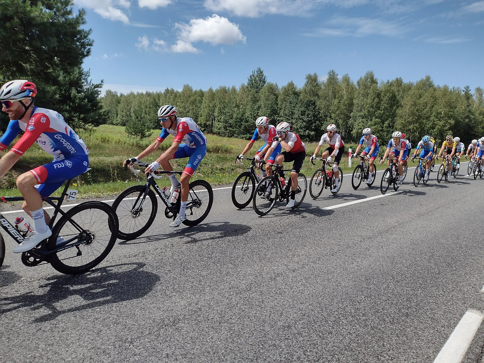
<path fill-rule="evenodd" d="M 192 19 L 189 24 L 176 23 L 175 27 L 180 29 L 178 38 L 186 43 L 202 41 L 212 45 L 233 45 L 239 41 L 242 43 L 246 41 L 237 24 L 216 14 L 207 16 L 205 19 Z"/>

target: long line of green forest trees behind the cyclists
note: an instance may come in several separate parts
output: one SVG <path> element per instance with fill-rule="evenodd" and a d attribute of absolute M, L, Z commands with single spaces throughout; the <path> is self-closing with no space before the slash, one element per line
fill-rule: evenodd
<path fill-rule="evenodd" d="M 238 88 L 203 91 L 184 85 L 181 91 L 119 95 L 108 90 L 101 103 L 108 123 L 125 126 L 128 134 L 140 137 L 160 128 L 160 106 L 174 105 L 179 117 L 191 117 L 204 133 L 220 136 L 249 138 L 257 117 L 267 116 L 273 125 L 289 122 L 291 130 L 307 141 L 318 140 L 334 123 L 345 141 L 359 140 L 363 128 L 371 127 L 382 142 L 398 130 L 410 141 L 424 135 L 441 141 L 452 133 L 468 144 L 484 136 L 483 93 L 480 87 L 472 93 L 469 86 L 438 86 L 430 76 L 416 83 L 401 78 L 382 82 L 371 71 L 356 83 L 331 70 L 325 80 L 308 74 L 301 88 L 292 81 L 279 87 L 257 68 Z"/>

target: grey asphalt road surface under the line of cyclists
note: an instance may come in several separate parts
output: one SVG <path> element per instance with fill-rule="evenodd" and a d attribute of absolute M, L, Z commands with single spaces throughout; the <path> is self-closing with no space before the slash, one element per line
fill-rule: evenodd
<path fill-rule="evenodd" d="M 216 190 L 203 224 L 158 213 L 79 276 L 25 267 L 9 238 L 0 361 L 432 362 L 484 310 L 484 180 L 415 188 L 412 172 L 398 194 L 323 209 L 380 195 L 381 173 L 356 191 L 347 176 L 337 196 L 265 217 Z M 464 362 L 483 342 L 481 327 Z"/>

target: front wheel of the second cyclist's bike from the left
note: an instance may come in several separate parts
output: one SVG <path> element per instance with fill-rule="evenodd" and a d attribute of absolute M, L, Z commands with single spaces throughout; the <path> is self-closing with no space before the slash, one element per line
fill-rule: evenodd
<path fill-rule="evenodd" d="M 121 194 L 113 202 L 119 220 L 118 238 L 124 241 L 134 240 L 145 233 L 156 217 L 158 201 L 150 188 L 146 198 L 142 199 L 146 191 L 144 185 L 134 185 Z M 141 202 L 143 204 L 140 207 Z"/>

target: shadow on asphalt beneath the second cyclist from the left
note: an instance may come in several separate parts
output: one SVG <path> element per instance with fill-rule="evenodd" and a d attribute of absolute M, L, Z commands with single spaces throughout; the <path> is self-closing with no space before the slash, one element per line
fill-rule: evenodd
<path fill-rule="evenodd" d="M 190 241 L 186 241 L 183 243 L 197 243 L 197 242 L 204 242 L 210 241 L 217 238 L 225 238 L 225 237 L 238 237 L 242 236 L 243 234 L 249 232 L 252 227 L 242 224 L 230 223 L 230 222 L 213 222 L 213 223 L 205 223 L 201 225 L 197 225 L 190 228 L 180 228 L 174 230 L 170 233 L 165 234 L 155 234 L 151 236 L 142 236 L 138 237 L 132 241 L 121 241 L 119 244 L 140 244 L 140 243 L 148 243 L 148 242 L 158 242 L 164 239 L 171 239 L 179 238 L 179 239 L 189 239 Z M 207 236 L 201 235 L 202 233 L 206 233 Z M 219 233 L 218 235 L 213 235 L 213 233 Z M 194 237 L 197 236 L 197 237 Z"/>

